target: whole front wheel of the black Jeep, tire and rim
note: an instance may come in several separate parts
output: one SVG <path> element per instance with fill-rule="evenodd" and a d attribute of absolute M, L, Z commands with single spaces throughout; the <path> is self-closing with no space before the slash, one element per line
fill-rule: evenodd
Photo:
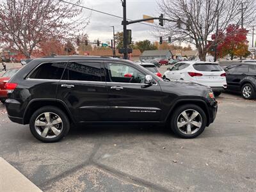
<path fill-rule="evenodd" d="M 171 118 L 171 128 L 181 138 L 196 138 L 205 129 L 207 117 L 202 108 L 186 104 L 177 108 Z"/>

